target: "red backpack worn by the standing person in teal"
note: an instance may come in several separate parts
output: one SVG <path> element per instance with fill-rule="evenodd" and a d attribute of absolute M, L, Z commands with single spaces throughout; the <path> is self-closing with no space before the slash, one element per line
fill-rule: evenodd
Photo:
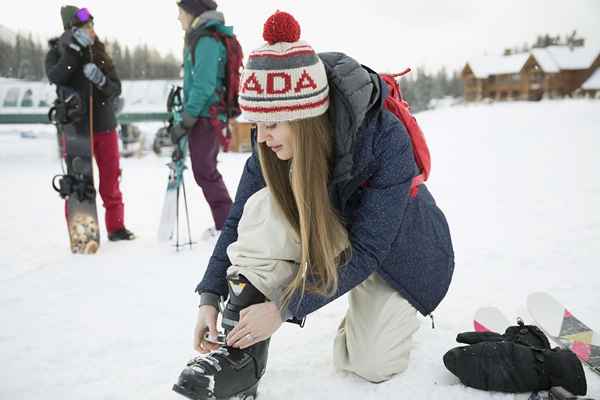
<path fill-rule="evenodd" d="M 210 29 L 206 32 L 206 35 L 212 36 L 214 39 L 220 41 L 225 46 L 225 50 L 227 52 L 227 65 L 225 67 L 225 93 L 221 99 L 221 103 L 218 104 L 217 107 L 209 110 L 209 113 L 215 114 L 213 117 L 217 118 L 219 112 L 225 110 L 225 114 L 227 115 L 227 119 L 237 118 L 242 111 L 240 110 L 240 105 L 238 103 L 238 94 L 240 87 L 240 75 L 242 74 L 242 70 L 244 68 L 244 52 L 242 51 L 242 46 L 240 42 L 237 40 L 235 35 L 227 36 L 222 34 L 221 32 Z M 196 42 L 202 36 L 199 35 L 196 38 Z M 195 48 L 195 43 L 192 45 L 192 49 Z M 191 52 L 192 55 L 192 64 L 196 63 L 195 60 L 195 52 Z M 229 143 L 231 142 L 231 132 L 229 131 L 229 124 L 227 124 L 226 135 L 219 135 L 219 140 L 221 145 L 223 146 L 223 151 L 228 151 Z"/>

